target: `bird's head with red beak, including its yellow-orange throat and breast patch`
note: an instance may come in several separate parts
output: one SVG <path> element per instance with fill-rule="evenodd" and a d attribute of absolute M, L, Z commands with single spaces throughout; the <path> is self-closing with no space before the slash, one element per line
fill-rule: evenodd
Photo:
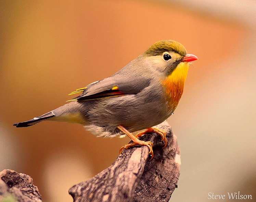
<path fill-rule="evenodd" d="M 187 54 L 185 47 L 177 41 L 163 40 L 154 43 L 143 54 L 151 68 L 162 74 L 160 78 L 164 87 L 170 112 L 178 105 L 187 78 L 189 62 L 197 60 L 195 55 Z"/>

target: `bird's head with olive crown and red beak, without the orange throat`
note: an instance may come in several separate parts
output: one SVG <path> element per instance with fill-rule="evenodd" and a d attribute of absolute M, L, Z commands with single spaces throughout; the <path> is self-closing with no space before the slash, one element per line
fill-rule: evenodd
<path fill-rule="evenodd" d="M 185 47 L 177 41 L 162 40 L 154 43 L 143 54 L 158 71 L 170 75 L 178 66 L 188 67 L 189 62 L 197 60 L 195 55 L 187 54 Z"/>

